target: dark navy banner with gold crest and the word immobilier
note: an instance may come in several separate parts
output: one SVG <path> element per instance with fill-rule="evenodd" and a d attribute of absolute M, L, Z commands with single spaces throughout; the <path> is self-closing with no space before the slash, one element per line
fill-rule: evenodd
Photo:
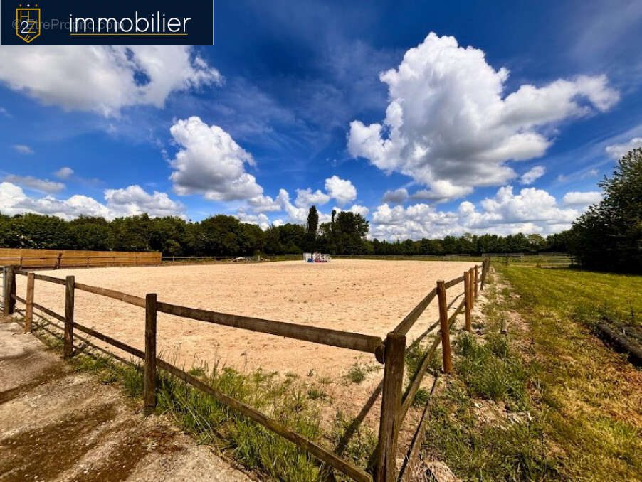
<path fill-rule="evenodd" d="M 2 0 L 1 45 L 212 45 L 212 1 Z"/>

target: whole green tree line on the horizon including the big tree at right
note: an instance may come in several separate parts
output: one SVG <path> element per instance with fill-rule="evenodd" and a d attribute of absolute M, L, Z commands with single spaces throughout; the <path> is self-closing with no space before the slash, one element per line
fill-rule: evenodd
<path fill-rule="evenodd" d="M 642 149 L 619 160 L 611 178 L 599 183 L 600 203 L 572 229 L 548 237 L 524 235 L 446 236 L 443 239 L 368 240 L 369 223 L 360 214 L 332 211 L 319 223 L 315 206 L 307 223 L 263 231 L 228 215 L 192 222 L 147 214 L 105 220 L 80 217 L 0 214 L 0 246 L 67 250 L 160 251 L 164 256 L 282 255 L 481 255 L 483 253 L 570 252 L 584 267 L 642 272 Z"/>

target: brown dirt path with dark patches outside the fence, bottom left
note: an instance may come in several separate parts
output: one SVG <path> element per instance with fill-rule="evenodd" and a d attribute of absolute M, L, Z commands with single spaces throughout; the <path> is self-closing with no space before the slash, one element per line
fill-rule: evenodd
<path fill-rule="evenodd" d="M 251 479 L 0 317 L 0 481 Z"/>

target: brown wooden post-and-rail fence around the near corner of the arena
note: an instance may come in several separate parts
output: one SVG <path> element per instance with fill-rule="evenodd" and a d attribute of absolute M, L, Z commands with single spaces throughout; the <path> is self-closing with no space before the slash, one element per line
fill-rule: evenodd
<path fill-rule="evenodd" d="M 490 260 L 484 259 L 480 265 L 470 268 L 464 272 L 461 277 L 451 279 L 451 281 L 443 282 L 438 281 L 436 287 L 432 289 L 417 306 L 412 309 L 409 314 L 399 323 L 393 331 L 388 333 L 386 339 L 383 340 L 379 336 L 364 335 L 359 333 L 350 333 L 346 331 L 338 331 L 327 328 L 317 328 L 315 326 L 305 326 L 296 323 L 285 323 L 282 321 L 264 320 L 261 318 L 251 318 L 248 316 L 237 316 L 233 314 L 223 314 L 216 311 L 209 311 L 204 309 L 194 309 L 186 306 L 178 306 L 174 304 L 164 303 L 157 299 L 156 294 L 147 294 L 144 298 L 133 296 L 130 294 L 121 293 L 112 289 L 100 288 L 98 286 L 90 286 L 87 284 L 77 283 L 73 276 L 68 276 L 65 279 L 37 274 L 34 272 L 27 272 L 16 267 L 4 267 L 4 314 L 11 315 L 14 311 L 23 313 L 24 316 L 24 331 L 31 332 L 34 310 L 41 311 L 41 313 L 50 316 L 56 321 L 63 323 L 62 325 L 48 320 L 44 316 L 38 314 L 46 323 L 60 329 L 63 334 L 63 355 L 65 358 L 70 358 L 74 353 L 74 341 L 79 339 L 83 343 L 92 346 L 102 352 L 108 353 L 104 348 L 96 346 L 91 343 L 87 338 L 83 338 L 76 334 L 77 331 L 82 332 L 86 336 L 97 338 L 100 341 L 115 346 L 126 353 L 130 353 L 136 358 L 144 360 L 144 412 L 149 414 L 154 411 L 156 405 L 156 372 L 158 369 L 165 370 L 172 375 L 178 377 L 189 385 L 196 387 L 196 389 L 205 392 L 206 394 L 214 397 L 222 405 L 236 409 L 241 414 L 248 417 L 248 419 L 263 425 L 270 429 L 272 432 L 279 434 L 281 437 L 288 439 L 293 444 L 300 447 L 304 451 L 315 456 L 318 460 L 327 464 L 326 470 L 331 471 L 335 469 L 344 473 L 349 478 L 359 482 L 392 482 L 392 481 L 409 481 L 411 473 L 414 471 L 414 466 L 419 456 L 419 449 L 423 442 L 425 434 L 425 421 L 428 417 L 428 404 L 423 408 L 419 425 L 414 430 L 414 437 L 408 451 L 404 455 L 403 464 L 398 470 L 396 467 L 397 452 L 398 452 L 398 436 L 399 429 L 404 423 L 404 419 L 409 412 L 414 397 L 419 390 L 423 377 L 428 372 L 428 366 L 436 353 L 436 349 L 441 344 L 442 348 L 442 366 L 443 373 L 449 373 L 452 370 L 451 360 L 451 341 L 450 331 L 453 323 L 462 311 L 465 316 L 465 330 L 470 331 L 470 311 L 473 308 L 475 299 L 478 293 L 483 289 L 485 278 L 490 266 Z M 16 275 L 26 276 L 26 296 L 22 298 L 16 294 Z M 56 283 L 65 286 L 65 313 L 58 314 L 46 306 L 41 306 L 33 301 L 33 293 L 36 280 L 40 282 Z M 461 302 L 455 309 L 448 313 L 449 306 L 446 302 L 446 290 L 463 284 L 463 295 Z M 74 294 L 75 290 L 88 291 L 100 296 L 107 296 L 112 299 L 117 299 L 127 304 L 140 306 L 145 309 L 145 331 L 144 331 L 144 346 L 145 349 L 139 350 L 129 346 L 122 341 L 107 336 L 105 333 L 95 331 L 93 328 L 84 326 L 74 319 Z M 439 318 L 438 321 L 428 326 L 421 336 L 416 338 L 410 346 L 406 347 L 406 334 L 414 326 L 423 311 L 437 299 Z M 16 301 L 25 305 L 24 310 L 16 310 Z M 454 304 L 454 301 L 453 303 Z M 189 375 L 180 368 L 167 363 L 167 361 L 157 358 L 156 355 L 156 337 L 157 337 L 157 313 L 166 313 L 174 316 L 181 316 L 183 318 L 191 318 L 205 323 L 216 323 L 223 326 L 232 326 L 239 329 L 257 331 L 260 333 L 269 333 L 286 338 L 295 338 L 302 341 L 311 343 L 320 343 L 328 346 L 337 346 L 349 350 L 357 350 L 374 355 L 379 363 L 384 364 L 383 380 L 379 383 L 372 395 L 369 397 L 366 405 L 361 409 L 359 415 L 354 419 L 352 424 L 348 427 L 343 437 L 340 439 L 335 449 L 327 449 L 320 446 L 315 441 L 307 439 L 302 435 L 293 432 L 293 430 L 285 427 L 277 419 L 269 417 L 266 414 L 259 412 L 257 409 L 250 407 L 232 397 L 229 397 L 220 390 L 207 385 L 198 378 Z M 409 380 L 409 384 L 404 390 L 404 369 L 405 369 L 405 355 L 406 351 L 413 348 L 421 342 L 423 338 L 428 336 L 438 328 L 436 338 L 431 344 L 430 348 L 421 360 L 419 370 Z M 110 353 L 111 354 L 111 353 Z M 121 358 L 122 360 L 122 358 Z M 438 381 L 438 373 L 433 380 L 431 395 L 435 390 Z M 356 432 L 359 424 L 368 414 L 369 410 L 374 405 L 374 402 L 381 395 L 381 414 L 379 418 L 379 439 L 377 448 L 371 456 L 371 463 L 374 470 L 374 476 L 368 473 L 364 468 L 356 466 L 352 461 L 348 461 L 342 457 L 342 453 L 346 448 L 349 439 Z"/>

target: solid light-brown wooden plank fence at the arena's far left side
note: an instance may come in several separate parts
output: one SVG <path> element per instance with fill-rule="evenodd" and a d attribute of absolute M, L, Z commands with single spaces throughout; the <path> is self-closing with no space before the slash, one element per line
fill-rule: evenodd
<path fill-rule="evenodd" d="M 160 264 L 160 252 L 31 250 L 0 248 L 0 264 L 19 268 L 90 268 Z"/>

